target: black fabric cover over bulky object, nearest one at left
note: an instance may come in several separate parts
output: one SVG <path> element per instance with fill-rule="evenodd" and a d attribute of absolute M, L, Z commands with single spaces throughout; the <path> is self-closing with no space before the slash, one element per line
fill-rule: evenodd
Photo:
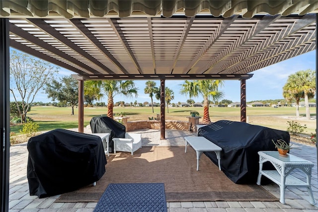
<path fill-rule="evenodd" d="M 31 137 L 27 178 L 39 198 L 75 191 L 98 181 L 107 163 L 100 137 L 55 129 Z"/>

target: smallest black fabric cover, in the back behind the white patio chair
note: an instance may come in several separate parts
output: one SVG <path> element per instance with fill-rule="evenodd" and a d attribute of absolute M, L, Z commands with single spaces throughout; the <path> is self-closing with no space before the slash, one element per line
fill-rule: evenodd
<path fill-rule="evenodd" d="M 109 147 L 110 153 L 114 153 L 113 138 L 125 138 L 126 127 L 118 121 L 108 116 L 96 116 L 90 120 L 90 128 L 92 133 L 110 133 Z"/>

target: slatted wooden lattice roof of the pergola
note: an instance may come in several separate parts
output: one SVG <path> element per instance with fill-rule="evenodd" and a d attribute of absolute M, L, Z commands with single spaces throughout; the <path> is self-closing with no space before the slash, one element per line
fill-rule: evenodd
<path fill-rule="evenodd" d="M 315 49 L 316 14 L 9 18 L 10 46 L 81 79 L 248 79 Z"/>

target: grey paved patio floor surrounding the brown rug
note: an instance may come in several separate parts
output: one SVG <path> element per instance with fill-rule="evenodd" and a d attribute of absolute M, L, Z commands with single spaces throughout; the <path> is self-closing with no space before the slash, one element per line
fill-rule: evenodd
<path fill-rule="evenodd" d="M 77 129 L 74 129 L 75 131 Z M 87 128 L 84 128 L 88 132 Z M 145 129 L 134 132 L 142 132 L 143 146 L 184 146 L 184 136 L 191 135 L 190 132 L 181 130 L 166 130 L 167 139 L 160 140 L 160 130 Z M 193 134 L 192 134 L 193 135 Z M 318 173 L 317 154 L 313 144 L 293 142 L 294 149 L 291 153 L 315 163 L 312 172 L 312 189 L 318 202 Z M 38 199 L 37 196 L 29 196 L 28 182 L 26 178 L 28 151 L 26 143 L 10 147 L 10 179 L 9 179 L 9 211 L 93 211 L 97 203 L 54 203 L 59 196 Z M 107 169 L 107 167 L 106 167 Z M 107 174 L 107 172 L 105 173 Z M 293 172 L 292 175 L 303 178 L 301 171 Z M 279 187 L 276 184 L 264 186 L 275 197 L 279 198 Z M 307 200 L 309 196 L 304 188 L 286 189 L 286 205 L 277 202 L 171 202 L 167 203 L 168 211 L 317 211 Z"/>

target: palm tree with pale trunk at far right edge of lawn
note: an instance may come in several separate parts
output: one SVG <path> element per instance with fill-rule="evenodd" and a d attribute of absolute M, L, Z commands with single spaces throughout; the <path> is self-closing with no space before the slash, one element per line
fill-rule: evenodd
<path fill-rule="evenodd" d="M 298 71 L 291 74 L 287 79 L 287 86 L 293 95 L 304 93 L 306 106 L 306 119 L 310 120 L 309 98 L 315 96 L 316 91 L 316 76 L 315 72 L 308 69 L 306 71 Z"/>

